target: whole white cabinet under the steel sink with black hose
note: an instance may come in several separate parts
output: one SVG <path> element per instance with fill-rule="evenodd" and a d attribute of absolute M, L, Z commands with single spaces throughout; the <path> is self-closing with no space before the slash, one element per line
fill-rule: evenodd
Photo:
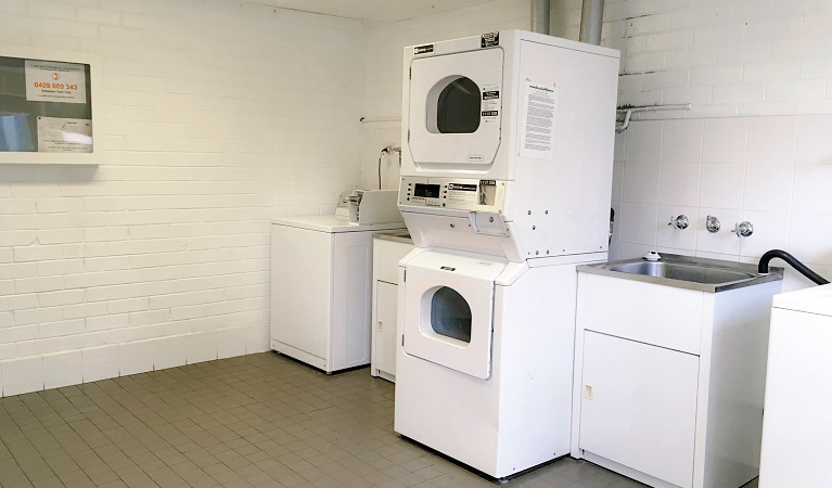
<path fill-rule="evenodd" d="M 771 297 L 578 272 L 572 455 L 654 487 L 759 472 Z"/>

